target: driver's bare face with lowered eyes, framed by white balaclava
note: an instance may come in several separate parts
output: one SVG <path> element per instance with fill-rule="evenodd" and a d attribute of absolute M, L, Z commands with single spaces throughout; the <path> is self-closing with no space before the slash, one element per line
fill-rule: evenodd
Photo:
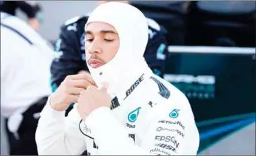
<path fill-rule="evenodd" d="M 108 63 L 119 48 L 119 36 L 115 28 L 104 22 L 91 22 L 85 29 L 87 63 L 98 68 Z"/>

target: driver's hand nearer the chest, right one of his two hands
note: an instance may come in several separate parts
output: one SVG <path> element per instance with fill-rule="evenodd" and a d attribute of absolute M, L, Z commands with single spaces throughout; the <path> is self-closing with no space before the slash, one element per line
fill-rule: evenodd
<path fill-rule="evenodd" d="M 77 111 L 83 120 L 96 108 L 108 107 L 111 105 L 111 97 L 107 93 L 105 86 L 89 86 L 87 90 L 81 92 L 78 99 Z"/>

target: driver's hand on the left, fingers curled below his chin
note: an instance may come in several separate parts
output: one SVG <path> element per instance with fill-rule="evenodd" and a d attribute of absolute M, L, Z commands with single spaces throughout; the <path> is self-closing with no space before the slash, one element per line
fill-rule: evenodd
<path fill-rule="evenodd" d="M 80 93 L 91 85 L 96 84 L 89 73 L 67 76 L 56 92 L 51 95 L 51 108 L 56 111 L 65 111 L 70 104 L 77 103 Z"/>

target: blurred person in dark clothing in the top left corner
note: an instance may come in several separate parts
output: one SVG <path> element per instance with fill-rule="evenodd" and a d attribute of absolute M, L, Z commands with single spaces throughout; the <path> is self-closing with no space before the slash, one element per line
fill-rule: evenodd
<path fill-rule="evenodd" d="M 27 15 L 30 26 L 35 30 L 39 29 L 40 23 L 43 22 L 43 13 L 37 1 L 0 1 L 1 12 L 16 15 L 18 8 Z"/>

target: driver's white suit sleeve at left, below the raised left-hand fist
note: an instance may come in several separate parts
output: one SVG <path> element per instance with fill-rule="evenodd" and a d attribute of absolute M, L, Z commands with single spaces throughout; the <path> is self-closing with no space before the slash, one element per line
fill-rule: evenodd
<path fill-rule="evenodd" d="M 84 136 L 79 132 L 81 118 L 77 109 L 55 111 L 49 101 L 41 111 L 36 132 L 36 143 L 39 155 L 81 155 L 86 150 Z"/>

